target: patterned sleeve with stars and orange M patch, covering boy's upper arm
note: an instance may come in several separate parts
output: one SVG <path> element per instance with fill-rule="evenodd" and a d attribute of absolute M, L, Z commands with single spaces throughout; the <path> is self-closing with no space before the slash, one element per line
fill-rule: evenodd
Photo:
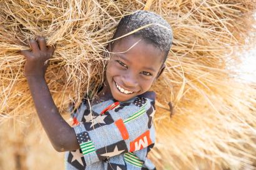
<path fill-rule="evenodd" d="M 154 134 L 150 134 L 154 113 L 154 101 L 137 97 L 104 115 L 84 115 L 85 121 L 73 128 L 86 164 L 139 151 L 154 143 Z"/>

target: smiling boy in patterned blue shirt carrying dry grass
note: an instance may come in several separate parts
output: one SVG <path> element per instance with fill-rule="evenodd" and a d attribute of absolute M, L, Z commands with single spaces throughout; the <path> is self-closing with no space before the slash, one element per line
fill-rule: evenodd
<path fill-rule="evenodd" d="M 145 27 L 108 45 L 104 85 L 73 114 L 74 127 L 59 114 L 44 80 L 54 48 L 39 37 L 29 40 L 32 51 L 21 51 L 37 115 L 52 146 L 67 151 L 66 169 L 155 169 L 147 159 L 155 140 L 155 93 L 147 91 L 164 70 L 172 31 L 157 14 L 136 11 L 121 19 L 113 39 L 152 23 L 164 27 Z"/>

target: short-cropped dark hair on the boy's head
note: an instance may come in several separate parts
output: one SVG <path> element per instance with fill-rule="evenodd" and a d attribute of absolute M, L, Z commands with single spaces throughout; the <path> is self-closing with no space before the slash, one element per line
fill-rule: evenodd
<path fill-rule="evenodd" d="M 148 42 L 159 47 L 160 50 L 165 53 L 165 62 L 170 50 L 170 46 L 172 45 L 172 29 L 170 24 L 165 21 L 165 19 L 155 14 L 154 12 L 139 10 L 128 16 L 122 17 L 117 26 L 113 39 L 121 37 L 122 35 L 125 35 L 148 24 L 153 25 L 145 27 L 144 29 L 140 29 L 140 31 L 137 31 L 132 35 L 139 36 L 142 39 L 147 40 Z M 154 24 L 160 24 L 164 27 Z M 114 45 L 112 45 L 112 47 L 114 47 Z"/>

